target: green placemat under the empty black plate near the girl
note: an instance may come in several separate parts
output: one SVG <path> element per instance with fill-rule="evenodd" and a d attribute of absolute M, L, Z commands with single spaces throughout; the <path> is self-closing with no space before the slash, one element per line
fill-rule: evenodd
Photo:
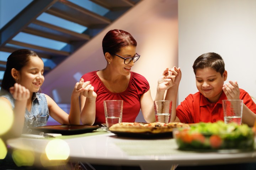
<path fill-rule="evenodd" d="M 94 135 L 102 135 L 102 134 L 108 134 L 109 132 L 107 132 L 105 129 L 97 129 L 94 130 L 92 132 L 88 132 L 85 134 L 77 134 L 77 135 L 62 135 L 62 136 L 56 136 L 56 137 L 28 137 L 26 136 L 25 138 L 34 138 L 34 139 L 46 139 L 46 140 L 50 140 L 50 139 L 70 139 L 70 138 L 76 138 L 76 137 L 85 137 L 85 136 L 94 136 Z"/>

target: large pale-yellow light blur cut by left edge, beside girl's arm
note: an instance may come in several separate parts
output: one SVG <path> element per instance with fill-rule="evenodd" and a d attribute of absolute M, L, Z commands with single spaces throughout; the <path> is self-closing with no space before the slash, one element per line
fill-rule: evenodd
<path fill-rule="evenodd" d="M 12 108 L 6 101 L 0 101 L 0 136 L 5 134 L 12 126 L 14 115 Z"/>

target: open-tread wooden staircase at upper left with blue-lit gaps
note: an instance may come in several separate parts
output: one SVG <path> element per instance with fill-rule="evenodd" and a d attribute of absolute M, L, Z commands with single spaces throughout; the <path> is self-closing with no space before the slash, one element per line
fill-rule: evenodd
<path fill-rule="evenodd" d="M 44 74 L 49 73 L 79 47 L 89 42 L 101 30 L 128 11 L 140 0 L 33 0 L 17 16 L 0 30 L 0 51 L 11 53 L 18 49 L 35 51 L 44 60 Z M 90 4 L 93 10 L 86 4 Z M 84 5 L 84 6 L 83 6 Z M 102 11 L 105 11 L 102 14 Z M 51 16 L 51 21 L 42 19 Z M 54 18 L 71 23 L 69 27 L 58 25 Z M 72 25 L 73 24 L 73 25 Z M 73 30 L 78 26 L 80 31 Z M 22 34 L 23 36 L 18 36 Z M 61 49 L 54 46 L 27 42 L 30 36 L 53 40 L 62 44 Z M 22 38 L 19 38 L 22 37 Z M 27 37 L 27 38 L 26 38 Z M 0 71 L 4 71 L 6 61 L 0 61 Z M 0 77 L 0 83 L 1 83 Z"/>

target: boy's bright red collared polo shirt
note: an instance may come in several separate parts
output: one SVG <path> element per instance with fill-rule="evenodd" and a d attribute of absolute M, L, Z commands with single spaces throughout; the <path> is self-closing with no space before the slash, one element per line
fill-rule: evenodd
<path fill-rule="evenodd" d="M 256 114 L 256 104 L 251 96 L 240 89 L 240 100 Z M 224 121 L 222 100 L 226 100 L 226 95 L 222 91 L 218 102 L 210 103 L 200 92 L 188 95 L 176 109 L 176 116 L 182 123 L 216 122 Z"/>

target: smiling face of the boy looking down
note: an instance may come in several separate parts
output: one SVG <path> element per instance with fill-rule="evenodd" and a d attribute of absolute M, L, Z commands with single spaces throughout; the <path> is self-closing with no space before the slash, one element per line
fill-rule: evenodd
<path fill-rule="evenodd" d="M 213 103 L 219 100 L 226 79 L 226 70 L 223 75 L 210 67 L 196 70 L 197 89 L 204 97 Z"/>

